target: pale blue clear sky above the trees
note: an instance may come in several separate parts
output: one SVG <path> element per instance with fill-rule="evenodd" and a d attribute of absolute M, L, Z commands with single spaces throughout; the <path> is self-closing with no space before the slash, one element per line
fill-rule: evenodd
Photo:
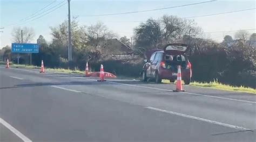
<path fill-rule="evenodd" d="M 90 26 L 97 22 L 103 22 L 109 30 L 117 33 L 119 37 L 126 36 L 129 38 L 133 36 L 133 29 L 140 24 L 136 21 L 144 21 L 148 18 L 158 19 L 163 15 L 175 15 L 184 18 L 256 8 L 256 2 L 252 0 L 219 0 L 158 11 L 130 13 L 126 15 L 91 16 L 159 9 L 206 1 L 210 0 L 71 0 L 70 4 L 71 16 L 78 17 L 79 25 Z M 68 19 L 68 4 L 65 4 L 66 2 L 67 0 L 0 0 L 0 28 L 4 27 L 4 29 L 0 29 L 0 31 L 3 31 L 0 32 L 0 48 L 5 45 L 11 45 L 11 32 L 15 27 L 32 27 L 35 30 L 35 38 L 31 42 L 36 42 L 39 35 L 43 35 L 48 42 L 51 42 L 50 27 L 58 26 L 64 20 Z M 64 5 L 55 11 L 46 11 L 52 6 L 60 5 L 59 3 Z M 46 5 L 50 6 L 43 9 Z M 203 29 L 205 32 L 203 34 L 204 38 L 211 38 L 220 42 L 227 34 L 234 36 L 237 30 L 254 29 L 248 30 L 248 32 L 250 34 L 256 32 L 255 13 L 256 11 L 254 9 L 190 19 L 194 19 L 197 25 Z"/>

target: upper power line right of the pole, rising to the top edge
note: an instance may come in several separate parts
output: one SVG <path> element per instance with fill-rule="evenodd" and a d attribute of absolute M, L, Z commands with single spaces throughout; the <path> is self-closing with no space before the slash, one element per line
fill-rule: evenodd
<path fill-rule="evenodd" d="M 200 2 L 200 3 L 185 4 L 185 5 L 178 5 L 178 6 L 171 6 L 171 7 L 159 8 L 159 9 L 142 10 L 142 11 L 131 11 L 131 12 L 121 12 L 121 13 L 109 13 L 109 14 L 101 14 L 101 15 L 84 15 L 83 17 L 126 15 L 126 14 L 130 14 L 130 13 L 140 13 L 140 12 L 149 12 L 149 11 L 157 11 L 157 10 L 165 10 L 165 9 L 180 8 L 180 7 L 184 7 L 184 6 L 197 5 L 197 4 L 203 4 L 203 3 L 211 3 L 211 2 L 215 2 L 215 1 L 216 1 L 216 0 L 206 1 L 206 2 Z"/>

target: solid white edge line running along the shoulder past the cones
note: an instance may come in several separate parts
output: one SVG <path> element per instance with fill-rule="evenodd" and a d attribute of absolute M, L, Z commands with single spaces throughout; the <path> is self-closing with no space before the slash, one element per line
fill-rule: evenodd
<path fill-rule="evenodd" d="M 86 79 L 83 77 L 75 77 L 78 79 L 84 79 L 84 80 L 93 80 L 93 79 Z M 96 80 L 94 80 L 96 81 Z M 132 86 L 132 87 L 140 87 L 140 88 L 147 88 L 147 89 L 155 89 L 155 90 L 163 90 L 163 91 L 173 91 L 173 90 L 168 90 L 168 89 L 160 89 L 160 88 L 153 88 L 153 87 L 146 87 L 146 86 L 136 86 L 136 85 L 132 85 L 132 84 L 125 84 L 125 83 L 118 83 L 118 82 L 111 82 L 111 81 L 106 81 L 108 83 L 113 83 L 113 84 L 120 84 L 120 85 L 124 85 L 124 86 Z M 203 94 L 196 94 L 196 93 L 189 93 L 189 92 L 180 92 L 183 94 L 190 94 L 190 95 L 197 95 L 197 96 L 204 96 L 204 97 L 212 97 L 212 98 L 220 98 L 220 99 L 224 99 L 224 100 L 230 100 L 230 101 L 238 101 L 238 102 L 246 102 L 246 103 L 254 103 L 256 104 L 256 102 L 252 102 L 252 101 L 245 101 L 245 100 L 237 100 L 237 99 L 233 99 L 233 98 L 226 98 L 226 97 L 217 97 L 217 96 L 210 96 L 210 95 L 203 95 Z"/>

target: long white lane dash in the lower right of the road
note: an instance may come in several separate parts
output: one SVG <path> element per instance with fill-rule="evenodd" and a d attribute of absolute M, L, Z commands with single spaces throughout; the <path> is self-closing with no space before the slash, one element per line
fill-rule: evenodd
<path fill-rule="evenodd" d="M 196 120 L 200 120 L 200 121 L 207 122 L 207 123 L 212 123 L 212 124 L 217 124 L 217 125 L 221 125 L 221 126 L 231 127 L 233 129 L 247 130 L 247 131 L 249 130 L 250 131 L 250 129 L 246 129 L 244 127 L 230 125 L 230 124 L 221 123 L 221 122 L 216 122 L 216 121 L 213 121 L 213 120 L 208 120 L 208 119 L 204 119 L 204 118 L 200 118 L 200 117 L 185 115 L 183 113 L 178 113 L 178 112 L 173 112 L 173 111 L 168 111 L 168 110 L 157 109 L 157 108 L 153 108 L 153 107 L 150 107 L 150 106 L 145 107 L 145 108 L 151 109 L 151 110 L 156 110 L 156 111 L 161 111 L 161 112 L 165 112 L 165 113 L 170 113 L 172 115 L 177 115 L 177 116 L 182 116 L 182 117 L 186 117 L 186 118 L 196 119 Z"/>

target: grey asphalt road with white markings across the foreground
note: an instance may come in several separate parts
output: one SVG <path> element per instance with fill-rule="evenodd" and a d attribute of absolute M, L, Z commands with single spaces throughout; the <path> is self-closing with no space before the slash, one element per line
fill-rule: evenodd
<path fill-rule="evenodd" d="M 38 71 L 0 67 L 0 141 L 256 141 L 253 94 Z"/>

